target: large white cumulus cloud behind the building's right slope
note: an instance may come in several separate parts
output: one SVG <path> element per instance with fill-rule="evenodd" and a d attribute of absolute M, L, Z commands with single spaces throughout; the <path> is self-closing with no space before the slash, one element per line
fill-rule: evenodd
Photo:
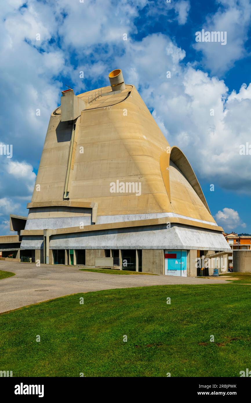
<path fill-rule="evenodd" d="M 251 138 L 251 85 L 229 93 L 223 80 L 185 64 L 184 50 L 166 35 L 128 45 L 116 64 L 128 83 L 136 78 L 170 145 L 185 152 L 200 178 L 250 194 L 251 156 L 240 155 L 240 145 Z"/>

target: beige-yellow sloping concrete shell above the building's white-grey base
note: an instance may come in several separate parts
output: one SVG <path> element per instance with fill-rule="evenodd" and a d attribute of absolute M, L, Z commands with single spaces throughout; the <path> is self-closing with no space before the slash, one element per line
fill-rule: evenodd
<path fill-rule="evenodd" d="M 81 112 L 75 129 L 68 197 L 98 203 L 97 216 L 170 212 L 215 223 L 193 183 L 173 162 L 167 167 L 170 200 L 160 167 L 160 156 L 169 147 L 168 141 L 137 89 L 130 87 L 126 91 L 128 95 L 122 102 L 116 94 L 110 95 L 114 104 L 95 108 L 101 97 Z M 36 184 L 40 187 L 37 191 L 35 186 L 32 202 L 62 200 L 72 128 L 72 122 L 61 122 L 60 114 L 52 114 L 37 174 Z M 177 163 L 183 166 L 179 153 Z M 190 167 L 188 162 L 187 166 Z M 190 170 L 193 173 L 191 167 Z M 140 195 L 111 192 L 111 183 L 117 181 L 140 183 Z"/>

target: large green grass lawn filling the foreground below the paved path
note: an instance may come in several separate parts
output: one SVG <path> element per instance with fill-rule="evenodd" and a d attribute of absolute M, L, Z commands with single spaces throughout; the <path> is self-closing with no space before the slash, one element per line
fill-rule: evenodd
<path fill-rule="evenodd" d="M 250 295 L 247 285 L 172 285 L 24 307 L 0 315 L 0 370 L 13 376 L 239 376 L 251 366 Z"/>

